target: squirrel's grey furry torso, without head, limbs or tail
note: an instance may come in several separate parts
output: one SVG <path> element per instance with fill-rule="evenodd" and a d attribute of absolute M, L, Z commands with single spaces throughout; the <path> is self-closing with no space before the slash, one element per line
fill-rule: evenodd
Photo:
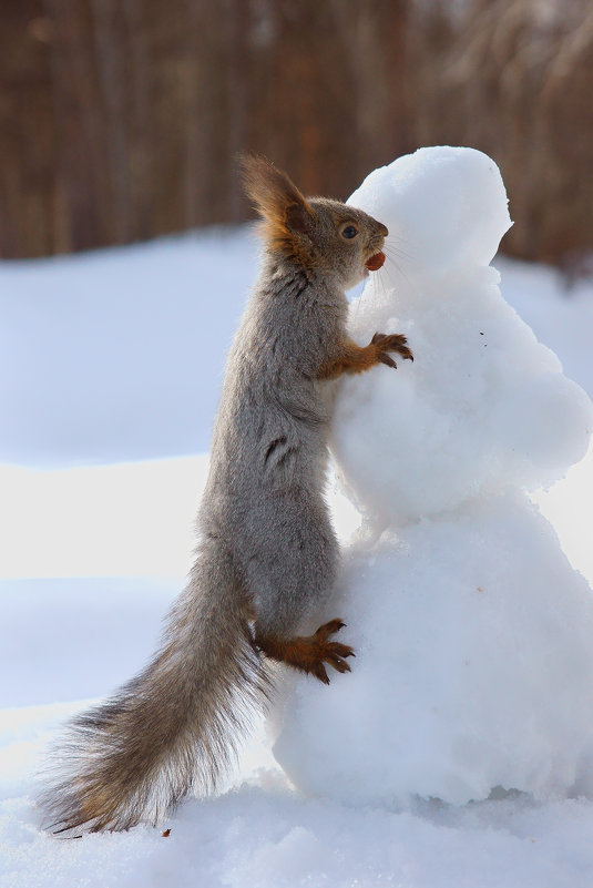
<path fill-rule="evenodd" d="M 323 499 L 327 384 L 315 376 L 345 325 L 346 299 L 324 289 L 298 268 L 266 263 L 231 351 L 214 431 L 200 520 L 233 545 L 263 634 L 294 633 L 337 570 Z"/>

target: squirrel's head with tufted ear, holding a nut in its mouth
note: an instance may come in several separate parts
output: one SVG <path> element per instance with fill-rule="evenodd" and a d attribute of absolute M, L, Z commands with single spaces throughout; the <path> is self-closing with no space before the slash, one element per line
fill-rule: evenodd
<path fill-rule="evenodd" d="M 264 222 L 269 252 L 344 289 L 382 265 L 386 226 L 361 210 L 327 197 L 306 198 L 264 157 L 242 161 L 245 192 Z"/>

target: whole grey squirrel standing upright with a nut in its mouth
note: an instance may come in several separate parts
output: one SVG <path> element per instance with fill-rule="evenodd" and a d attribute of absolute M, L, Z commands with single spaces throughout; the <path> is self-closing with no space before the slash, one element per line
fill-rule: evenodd
<path fill-rule="evenodd" d="M 259 277 L 235 336 L 197 517 L 196 561 L 152 662 L 65 726 L 41 805 L 58 833 L 155 825 L 212 792 L 270 693 L 267 660 L 329 683 L 352 649 L 331 620 L 299 635 L 338 570 L 324 499 L 327 380 L 413 360 L 406 337 L 348 338 L 345 290 L 382 265 L 388 231 L 306 198 L 259 156 L 244 185 L 263 221 Z"/>

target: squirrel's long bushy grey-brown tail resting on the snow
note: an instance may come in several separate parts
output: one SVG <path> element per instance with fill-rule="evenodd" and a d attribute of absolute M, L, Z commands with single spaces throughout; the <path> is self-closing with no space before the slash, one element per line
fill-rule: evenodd
<path fill-rule="evenodd" d="M 53 829 L 155 824 L 191 789 L 213 789 L 268 690 L 233 573 L 211 540 L 153 661 L 67 726 L 40 799 Z"/>

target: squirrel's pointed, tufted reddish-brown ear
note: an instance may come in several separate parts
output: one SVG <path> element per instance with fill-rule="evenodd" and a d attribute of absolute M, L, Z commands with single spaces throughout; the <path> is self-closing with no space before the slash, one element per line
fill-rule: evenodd
<path fill-rule="evenodd" d="M 245 193 L 273 236 L 308 231 L 314 211 L 292 180 L 265 157 L 241 159 Z"/>

